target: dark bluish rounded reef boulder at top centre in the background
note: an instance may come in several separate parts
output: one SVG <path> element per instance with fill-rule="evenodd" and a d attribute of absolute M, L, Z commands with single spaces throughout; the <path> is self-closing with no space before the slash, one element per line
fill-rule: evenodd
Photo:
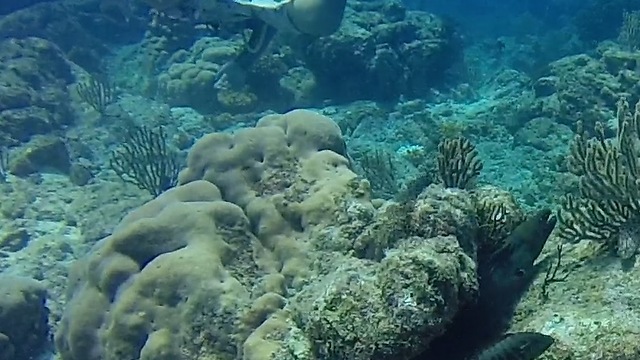
<path fill-rule="evenodd" d="M 354 2 L 347 10 L 336 34 L 305 51 L 321 96 L 341 102 L 413 98 L 442 85 L 459 60 L 454 29 L 435 15 L 407 11 L 399 1 Z"/>

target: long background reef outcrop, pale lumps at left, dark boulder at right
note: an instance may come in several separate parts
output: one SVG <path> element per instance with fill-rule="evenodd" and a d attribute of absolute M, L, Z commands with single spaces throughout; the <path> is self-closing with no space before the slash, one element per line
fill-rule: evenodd
<path fill-rule="evenodd" d="M 442 85 L 447 69 L 460 59 L 462 48 L 453 27 L 434 15 L 407 11 L 399 2 L 354 2 L 347 12 L 334 35 L 311 42 L 291 41 L 287 35 L 276 39 L 274 50 L 252 66 L 244 88 L 216 91 L 214 99 L 215 74 L 237 53 L 239 36 L 207 31 L 194 41 L 193 29 L 171 31 L 160 19 L 138 51 L 121 61 L 124 66 L 133 61 L 145 67 L 142 72 L 154 84 L 148 88 L 172 106 L 238 113 L 267 107 L 277 111 L 325 98 L 345 102 L 391 100 L 400 94 L 417 97 Z M 130 72 L 139 77 L 133 72 L 140 71 Z M 334 81 L 336 77 L 341 80 Z"/>

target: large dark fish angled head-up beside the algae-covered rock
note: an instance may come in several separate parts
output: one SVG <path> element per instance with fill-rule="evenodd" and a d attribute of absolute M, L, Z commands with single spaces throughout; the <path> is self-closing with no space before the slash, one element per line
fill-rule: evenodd
<path fill-rule="evenodd" d="M 494 357 L 486 359 L 535 359 L 539 354 L 530 358 L 513 358 L 507 354 L 501 358 L 495 357 L 495 354 L 499 349 L 506 350 L 507 345 L 514 344 L 517 339 L 526 339 L 524 336 L 511 336 L 513 340 L 499 346 L 516 305 L 538 274 L 539 268 L 534 262 L 555 224 L 556 219 L 551 216 L 551 211 L 542 210 L 518 225 L 503 240 L 500 248 L 479 256 L 477 301 L 460 309 L 445 333 L 434 339 L 429 348 L 413 360 L 464 360 L 473 358 L 483 349 L 492 348 Z"/>

